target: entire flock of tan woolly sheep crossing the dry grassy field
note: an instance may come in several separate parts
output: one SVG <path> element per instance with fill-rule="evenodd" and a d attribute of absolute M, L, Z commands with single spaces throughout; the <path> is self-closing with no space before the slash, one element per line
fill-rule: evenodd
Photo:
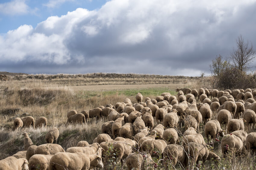
<path fill-rule="evenodd" d="M 115 105 L 99 106 L 81 113 L 69 111 L 67 123 L 84 124 L 93 117 L 105 117 L 109 121 L 102 125 L 102 134 L 93 140 L 93 144 L 79 141 L 76 147 L 66 150 L 56 144 L 59 136 L 56 127 L 46 133 L 47 144 L 40 146 L 34 145 L 25 132 L 24 151 L 0 160 L 0 169 L 106 168 L 110 158 L 121 161 L 122 165 L 125 162 L 129 170 L 143 169 L 147 165 L 157 168 L 152 157 L 160 157 L 165 169 L 177 163 L 181 168 L 194 168 L 198 161 L 217 163 L 220 160 L 210 149 L 219 141 L 223 157 L 227 153 L 254 154 L 256 89 L 183 88 L 176 91 L 177 96 L 162 93 L 155 99 L 147 97 L 143 102 L 143 96 L 138 93 L 134 104 L 125 99 Z M 212 120 L 213 113 L 217 114 L 217 120 Z M 14 129 L 46 125 L 45 117 L 35 123 L 31 116 L 14 119 Z M 200 125 L 203 125 L 208 143 L 198 133 Z"/>

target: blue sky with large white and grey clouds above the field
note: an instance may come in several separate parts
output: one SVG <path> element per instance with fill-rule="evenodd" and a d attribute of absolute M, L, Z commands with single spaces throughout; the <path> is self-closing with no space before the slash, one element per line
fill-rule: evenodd
<path fill-rule="evenodd" d="M 255 11 L 256 0 L 0 0 L 0 71 L 208 75 L 240 34 L 256 46 Z"/>

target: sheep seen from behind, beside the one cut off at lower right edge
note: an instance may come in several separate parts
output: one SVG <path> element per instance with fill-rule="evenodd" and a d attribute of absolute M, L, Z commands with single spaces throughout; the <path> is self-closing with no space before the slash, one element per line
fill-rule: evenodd
<path fill-rule="evenodd" d="M 224 157 L 226 156 L 226 153 L 229 151 L 231 151 L 231 153 L 246 152 L 246 149 L 243 145 L 242 140 L 233 134 L 228 134 L 223 136 L 220 142 L 220 146 L 221 146 L 221 151 Z"/>

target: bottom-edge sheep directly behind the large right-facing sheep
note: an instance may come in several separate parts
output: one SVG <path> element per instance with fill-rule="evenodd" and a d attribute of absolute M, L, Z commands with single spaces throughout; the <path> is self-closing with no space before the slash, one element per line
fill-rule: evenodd
<path fill-rule="evenodd" d="M 36 170 L 40 168 L 40 170 L 48 170 L 50 159 L 53 155 L 41 155 L 36 154 L 31 156 L 28 161 L 28 167 L 31 170 Z"/>

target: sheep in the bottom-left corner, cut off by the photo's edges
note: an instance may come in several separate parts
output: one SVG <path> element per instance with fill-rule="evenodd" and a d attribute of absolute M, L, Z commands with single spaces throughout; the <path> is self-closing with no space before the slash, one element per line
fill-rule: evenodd
<path fill-rule="evenodd" d="M 9 156 L 0 160 L 1 170 L 28 170 L 28 162 L 25 158 L 17 159 L 14 156 Z"/>

